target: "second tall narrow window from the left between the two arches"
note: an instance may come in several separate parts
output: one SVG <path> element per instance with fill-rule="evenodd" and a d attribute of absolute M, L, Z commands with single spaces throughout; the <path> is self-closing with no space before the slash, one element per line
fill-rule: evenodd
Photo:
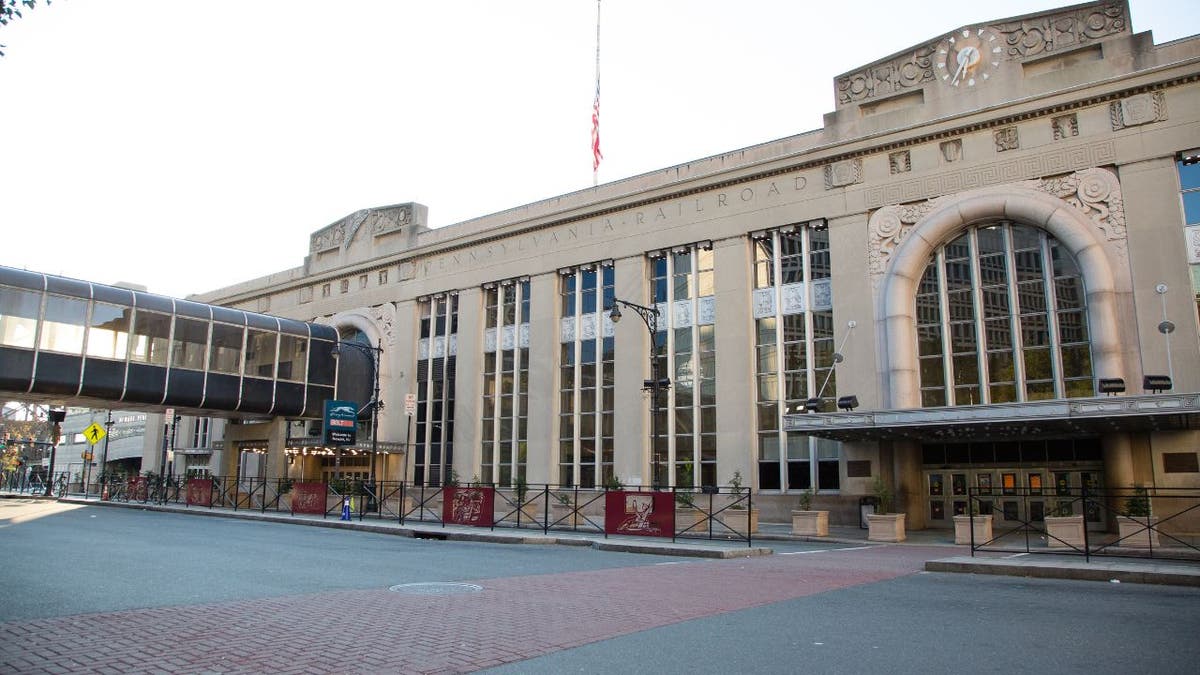
<path fill-rule="evenodd" d="M 526 476 L 529 428 L 529 280 L 484 288 L 480 478 L 511 486 Z"/>

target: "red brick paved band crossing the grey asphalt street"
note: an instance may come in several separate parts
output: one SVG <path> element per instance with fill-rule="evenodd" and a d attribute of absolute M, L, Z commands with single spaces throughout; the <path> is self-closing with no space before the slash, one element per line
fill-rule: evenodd
<path fill-rule="evenodd" d="M 887 546 L 355 590 L 0 623 L 4 673 L 460 673 L 912 574 Z"/>

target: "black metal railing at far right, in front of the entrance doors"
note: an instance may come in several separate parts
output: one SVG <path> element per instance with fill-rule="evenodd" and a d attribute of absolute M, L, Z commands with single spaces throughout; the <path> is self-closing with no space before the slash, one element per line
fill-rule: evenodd
<path fill-rule="evenodd" d="M 1027 552 L 1200 560 L 1200 490 L 967 490 L 971 555 Z M 982 516 L 982 518 L 980 518 Z"/>

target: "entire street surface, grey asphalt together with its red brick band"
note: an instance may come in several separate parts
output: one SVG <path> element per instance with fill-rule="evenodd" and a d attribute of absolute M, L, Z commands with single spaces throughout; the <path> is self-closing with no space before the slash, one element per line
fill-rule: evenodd
<path fill-rule="evenodd" d="M 0 500 L 5 673 L 1195 673 L 1200 590 Z M 422 596 L 397 584 L 470 581 Z"/>

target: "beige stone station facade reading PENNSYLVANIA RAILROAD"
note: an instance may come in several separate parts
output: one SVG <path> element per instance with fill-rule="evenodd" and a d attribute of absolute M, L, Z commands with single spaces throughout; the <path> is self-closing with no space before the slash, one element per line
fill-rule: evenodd
<path fill-rule="evenodd" d="M 910 527 L 960 480 L 1194 488 L 1198 77 L 1120 1 L 962 26 L 834 78 L 822 129 L 436 229 L 362 209 L 193 299 L 380 346 L 386 479 L 738 474 L 763 518 L 811 489 L 851 524 L 881 477 Z M 328 471 L 283 424 L 214 471 Z"/>

